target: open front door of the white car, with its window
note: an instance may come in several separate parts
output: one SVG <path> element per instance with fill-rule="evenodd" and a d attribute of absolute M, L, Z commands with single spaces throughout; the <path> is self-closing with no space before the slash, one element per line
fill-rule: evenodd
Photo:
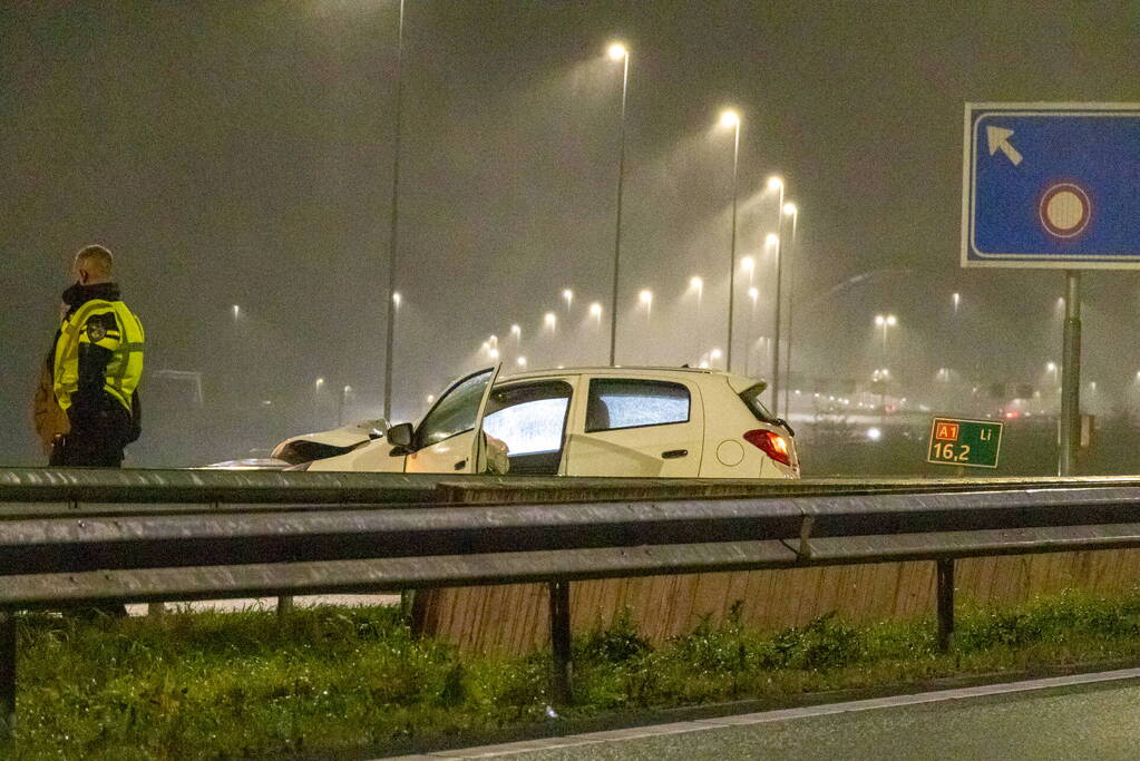
<path fill-rule="evenodd" d="M 482 473 L 486 441 L 482 435 L 487 396 L 499 366 L 459 378 L 440 396 L 413 434 L 406 473 Z"/>

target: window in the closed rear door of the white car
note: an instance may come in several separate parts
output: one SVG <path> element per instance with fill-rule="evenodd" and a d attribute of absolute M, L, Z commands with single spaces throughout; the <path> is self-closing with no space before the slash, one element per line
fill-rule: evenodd
<path fill-rule="evenodd" d="M 592 378 L 586 433 L 689 422 L 689 388 L 668 380 Z"/>

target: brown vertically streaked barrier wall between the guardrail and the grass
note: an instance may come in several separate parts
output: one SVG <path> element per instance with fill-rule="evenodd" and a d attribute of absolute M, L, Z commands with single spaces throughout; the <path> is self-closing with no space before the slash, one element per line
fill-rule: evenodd
<path fill-rule="evenodd" d="M 955 576 L 962 602 L 1008 606 L 1076 588 L 1118 594 L 1140 581 L 1140 549 L 966 558 Z M 742 623 L 757 631 L 801 627 L 834 612 L 861 625 L 934 613 L 934 563 L 880 563 L 783 571 L 733 571 L 576 582 L 575 635 L 609 627 L 629 609 L 654 645 L 687 633 L 706 616 L 720 623 L 741 602 Z M 549 646 L 545 584 L 438 589 L 416 595 L 416 628 L 467 652 L 510 655 Z"/>

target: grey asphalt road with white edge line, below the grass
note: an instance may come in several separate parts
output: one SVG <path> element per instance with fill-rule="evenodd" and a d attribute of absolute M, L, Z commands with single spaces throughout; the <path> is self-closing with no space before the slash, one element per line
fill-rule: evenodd
<path fill-rule="evenodd" d="M 726 717 L 420 758 L 734 761 L 752 759 L 1138 759 L 1140 670 L 1129 679 L 1018 692 L 951 690 Z M 1043 680 L 1056 685 L 1061 680 Z M 994 694 L 984 694 L 985 692 Z M 946 696 L 955 694 L 952 699 Z M 935 695 L 935 697 L 928 697 Z M 893 702 L 897 704 L 891 705 Z M 732 726 L 739 722 L 740 726 Z M 562 744 L 562 747 L 553 745 Z M 528 748 L 529 746 L 529 748 Z"/>

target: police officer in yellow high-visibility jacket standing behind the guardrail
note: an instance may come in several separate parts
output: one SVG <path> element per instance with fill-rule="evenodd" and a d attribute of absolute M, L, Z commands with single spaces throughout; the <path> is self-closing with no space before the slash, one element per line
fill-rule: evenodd
<path fill-rule="evenodd" d="M 51 465 L 117 468 L 138 439 L 142 324 L 120 298 L 114 260 L 103 246 L 75 255 L 76 283 L 64 292 L 52 380 L 71 432 L 56 440 Z"/>

